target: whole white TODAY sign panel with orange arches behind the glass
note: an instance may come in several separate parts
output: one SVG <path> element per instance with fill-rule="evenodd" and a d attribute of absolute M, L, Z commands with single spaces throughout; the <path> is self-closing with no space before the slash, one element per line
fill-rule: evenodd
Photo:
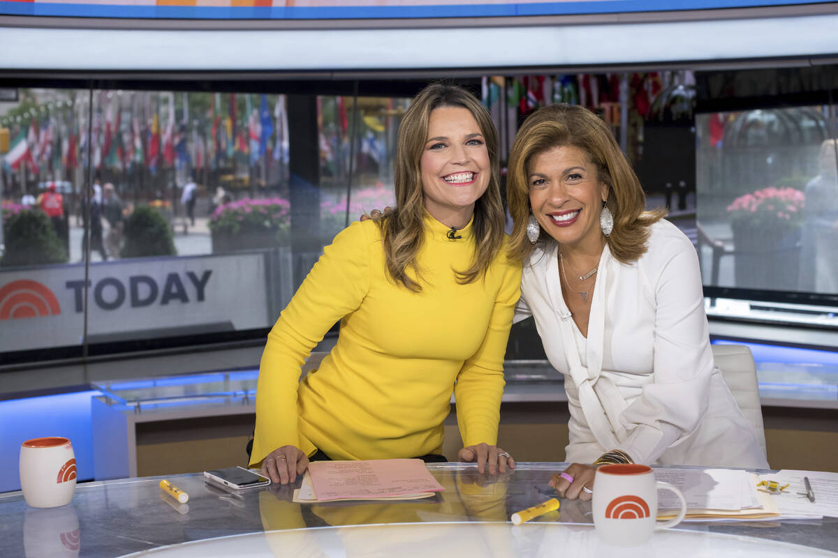
<path fill-rule="evenodd" d="M 85 287 L 91 337 L 149 338 L 156 330 L 271 325 L 261 253 L 128 259 L 0 272 L 0 352 L 81 342 Z M 133 335 L 132 335 L 133 334 Z"/>

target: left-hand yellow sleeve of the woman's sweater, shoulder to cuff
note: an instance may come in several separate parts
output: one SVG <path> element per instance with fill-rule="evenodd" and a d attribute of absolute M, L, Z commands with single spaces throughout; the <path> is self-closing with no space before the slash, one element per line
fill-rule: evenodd
<path fill-rule="evenodd" d="M 256 384 L 251 467 L 258 467 L 268 453 L 282 446 L 300 448 L 297 388 L 303 362 L 335 322 L 360 306 L 370 289 L 375 226 L 371 221 L 353 223 L 323 248 L 323 255 L 268 334 Z"/>

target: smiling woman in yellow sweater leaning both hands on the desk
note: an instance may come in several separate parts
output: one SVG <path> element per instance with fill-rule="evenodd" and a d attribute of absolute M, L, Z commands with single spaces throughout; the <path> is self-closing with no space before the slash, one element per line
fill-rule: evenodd
<path fill-rule="evenodd" d="M 339 233 L 268 335 L 251 466 L 273 482 L 308 458 L 444 460 L 452 391 L 458 457 L 481 473 L 515 467 L 496 446 L 521 275 L 506 258 L 496 136 L 453 85 L 429 85 L 406 111 L 396 210 Z M 337 320 L 334 349 L 298 381 Z"/>

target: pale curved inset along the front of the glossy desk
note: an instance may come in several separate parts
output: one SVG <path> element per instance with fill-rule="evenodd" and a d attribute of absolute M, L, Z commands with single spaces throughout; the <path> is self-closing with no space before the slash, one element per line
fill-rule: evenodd
<path fill-rule="evenodd" d="M 558 524 L 423 523 L 415 525 L 353 525 L 317 530 L 285 530 L 202 540 L 132 556 L 204 558 L 205 556 L 398 556 L 399 558 L 463 558 L 487 556 L 742 556 L 795 558 L 835 556 L 773 540 L 696 531 L 661 531 L 644 545 L 606 545 L 590 526 Z"/>

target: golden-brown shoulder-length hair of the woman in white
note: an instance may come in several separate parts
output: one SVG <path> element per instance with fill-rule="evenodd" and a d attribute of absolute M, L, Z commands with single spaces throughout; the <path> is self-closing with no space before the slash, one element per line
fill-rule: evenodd
<path fill-rule="evenodd" d="M 532 253 L 526 238 L 530 218 L 530 164 L 535 156 L 554 147 L 573 146 L 597 169 L 597 179 L 608 186 L 608 209 L 614 228 L 606 242 L 614 258 L 628 264 L 646 252 L 649 227 L 664 217 L 664 210 L 645 212 L 646 196 L 634 170 L 620 151 L 608 125 L 581 106 L 549 105 L 536 110 L 521 126 L 510 154 L 507 195 L 515 226 L 510 257 L 519 261 Z M 553 241 L 541 231 L 540 243 Z M 555 241 L 553 241 L 555 242 Z"/>

